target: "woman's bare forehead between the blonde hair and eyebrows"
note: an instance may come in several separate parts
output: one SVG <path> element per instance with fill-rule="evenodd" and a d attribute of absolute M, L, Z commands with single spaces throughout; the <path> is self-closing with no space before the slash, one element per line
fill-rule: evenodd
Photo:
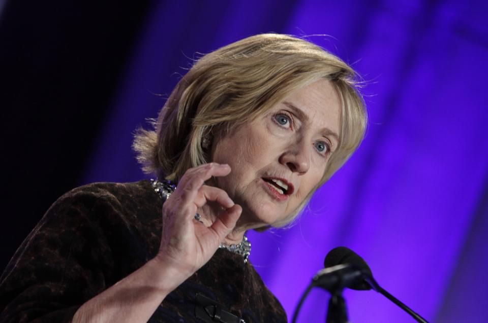
<path fill-rule="evenodd" d="M 296 107 L 310 124 L 339 134 L 341 101 L 331 81 L 319 80 L 297 89 L 282 104 Z"/>

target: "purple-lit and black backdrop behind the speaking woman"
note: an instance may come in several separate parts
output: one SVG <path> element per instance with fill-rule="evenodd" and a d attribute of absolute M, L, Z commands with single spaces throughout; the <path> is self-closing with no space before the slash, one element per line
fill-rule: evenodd
<path fill-rule="evenodd" d="M 56 196 L 143 177 L 131 133 L 157 116 L 154 93 L 169 95 L 196 52 L 261 32 L 322 34 L 310 40 L 368 81 L 367 136 L 296 226 L 249 234 L 253 264 L 289 318 L 328 250 L 345 245 L 426 319 L 488 321 L 488 3 L 26 3 L 7 2 L 0 21 L 11 73 L 4 266 Z M 19 208 L 26 193 L 37 208 Z M 345 295 L 353 322 L 413 321 L 375 292 Z M 327 300 L 314 290 L 299 321 L 325 321 Z"/>

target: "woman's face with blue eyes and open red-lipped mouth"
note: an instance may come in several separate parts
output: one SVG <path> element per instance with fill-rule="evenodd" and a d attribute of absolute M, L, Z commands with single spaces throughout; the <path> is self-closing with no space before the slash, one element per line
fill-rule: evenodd
<path fill-rule="evenodd" d="M 215 143 L 212 161 L 232 168 L 217 185 L 242 206 L 239 223 L 262 227 L 295 213 L 337 148 L 340 119 L 337 91 L 320 80 Z"/>

